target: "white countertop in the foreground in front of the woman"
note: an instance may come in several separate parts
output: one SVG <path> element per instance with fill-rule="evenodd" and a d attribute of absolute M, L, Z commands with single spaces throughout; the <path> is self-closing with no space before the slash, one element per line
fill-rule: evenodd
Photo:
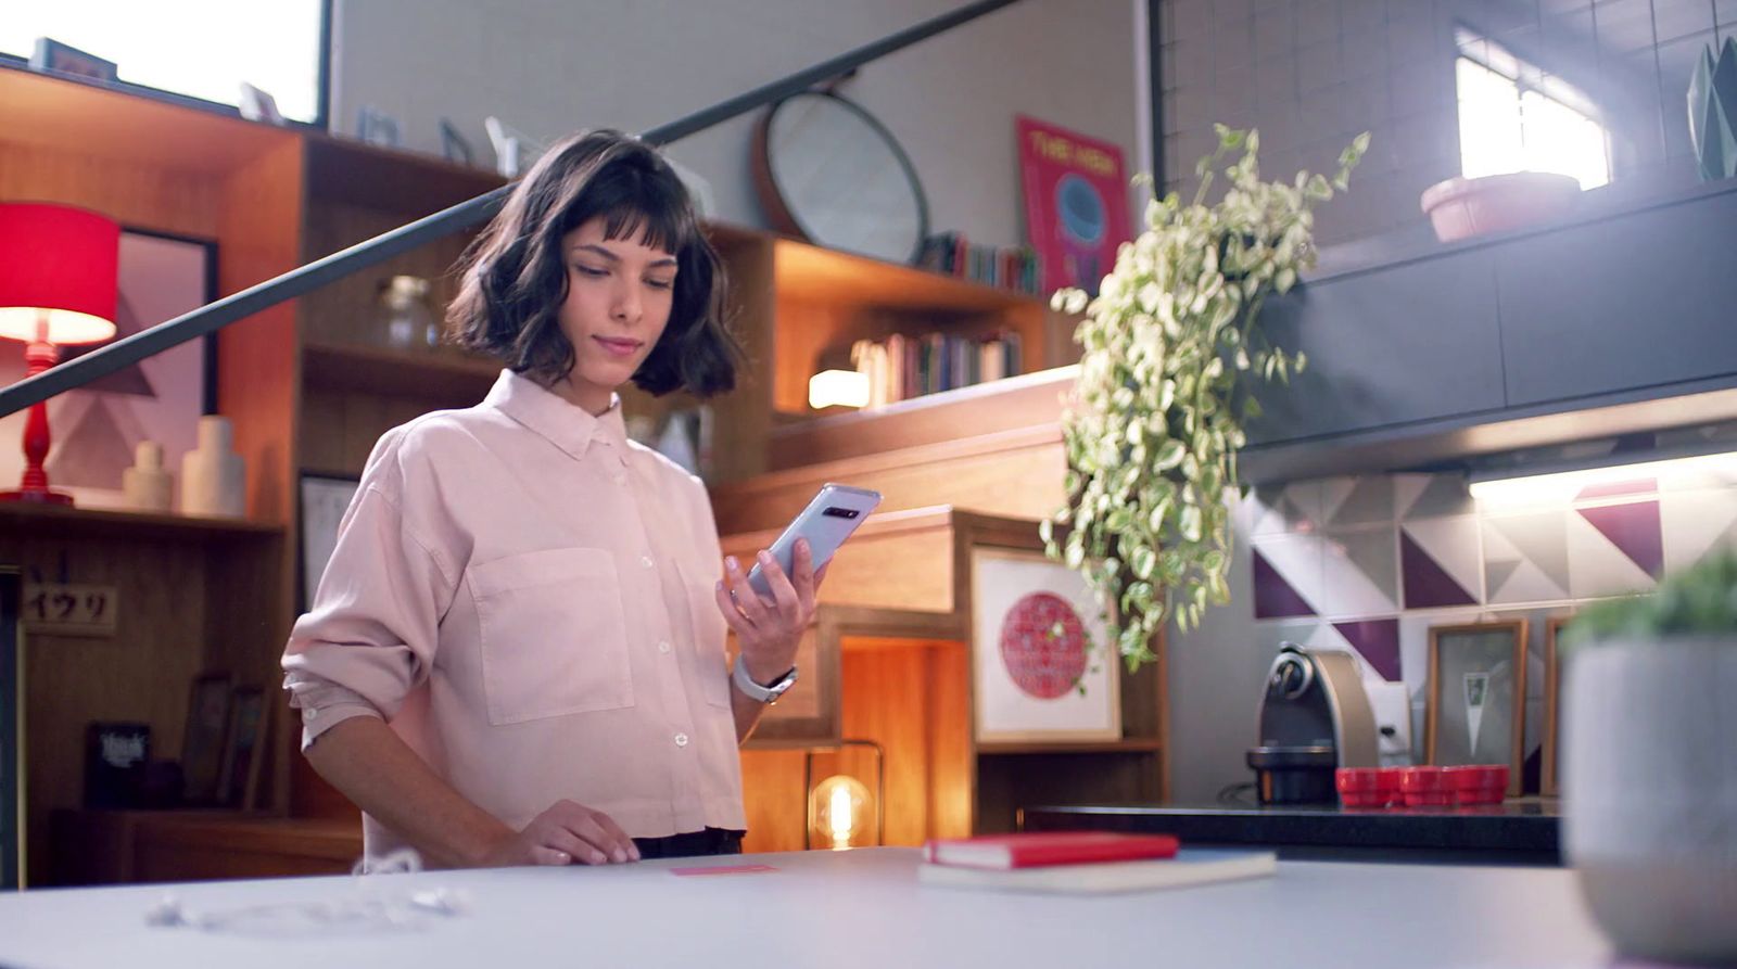
<path fill-rule="evenodd" d="M 735 863 L 776 870 L 669 872 Z M 1563 868 L 1294 861 L 1249 882 L 1037 896 L 919 886 L 915 867 L 915 849 L 884 847 L 360 880 L 36 889 L 0 898 L 0 966 L 1423 969 L 1593 967 L 1610 959 Z M 438 887 L 464 893 L 469 910 L 408 929 L 288 938 L 146 924 L 146 912 L 167 894 L 189 912 L 219 913 Z"/>

